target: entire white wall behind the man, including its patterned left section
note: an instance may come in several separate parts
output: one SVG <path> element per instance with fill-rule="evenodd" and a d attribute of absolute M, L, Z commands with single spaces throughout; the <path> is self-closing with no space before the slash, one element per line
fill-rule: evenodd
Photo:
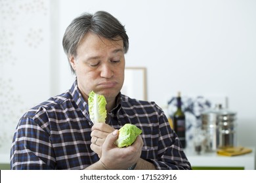
<path fill-rule="evenodd" d="M 29 108 L 70 89 L 66 27 L 106 10 L 129 35 L 127 67 L 145 67 L 148 101 L 202 95 L 237 112 L 238 144 L 256 147 L 256 1 L 0 0 L 0 158 Z M 1 162 L 0 162 L 1 163 Z"/>

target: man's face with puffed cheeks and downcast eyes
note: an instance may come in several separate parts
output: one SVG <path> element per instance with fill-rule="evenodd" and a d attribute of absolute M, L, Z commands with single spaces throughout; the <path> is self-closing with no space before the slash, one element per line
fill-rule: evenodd
<path fill-rule="evenodd" d="M 123 40 L 111 41 L 87 33 L 77 47 L 77 56 L 72 56 L 70 63 L 85 100 L 92 90 L 104 95 L 107 101 L 116 99 L 124 80 Z"/>

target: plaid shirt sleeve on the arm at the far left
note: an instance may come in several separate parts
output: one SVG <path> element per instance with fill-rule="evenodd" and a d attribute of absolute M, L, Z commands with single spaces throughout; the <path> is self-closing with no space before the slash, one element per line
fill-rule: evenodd
<path fill-rule="evenodd" d="M 49 133 L 40 118 L 22 117 L 12 140 L 11 169 L 54 169 Z"/>

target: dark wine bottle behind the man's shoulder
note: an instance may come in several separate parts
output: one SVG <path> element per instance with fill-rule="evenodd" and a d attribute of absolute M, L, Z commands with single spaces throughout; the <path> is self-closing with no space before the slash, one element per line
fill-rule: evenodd
<path fill-rule="evenodd" d="M 181 109 L 181 92 L 178 92 L 177 110 L 173 114 L 173 129 L 179 136 L 182 148 L 186 148 L 186 118 Z"/>

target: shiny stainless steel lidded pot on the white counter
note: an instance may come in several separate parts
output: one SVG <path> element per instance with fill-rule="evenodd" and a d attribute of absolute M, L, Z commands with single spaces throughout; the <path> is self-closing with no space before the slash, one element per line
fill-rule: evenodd
<path fill-rule="evenodd" d="M 206 131 L 206 151 L 236 146 L 236 112 L 216 105 L 202 113 L 202 129 Z"/>

